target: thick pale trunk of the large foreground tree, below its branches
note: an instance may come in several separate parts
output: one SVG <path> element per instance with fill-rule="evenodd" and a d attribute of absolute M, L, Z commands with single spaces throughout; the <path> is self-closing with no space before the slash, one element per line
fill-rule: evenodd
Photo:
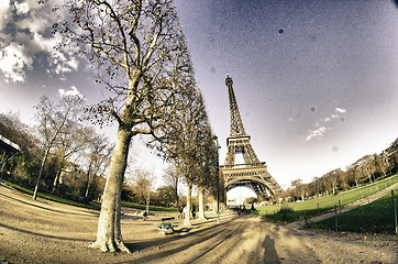
<path fill-rule="evenodd" d="M 102 252 L 129 251 L 122 242 L 120 218 L 121 193 L 130 141 L 131 132 L 119 128 L 117 145 L 112 154 L 111 167 L 102 196 L 97 241 L 90 245 L 91 248 L 99 248 Z"/>

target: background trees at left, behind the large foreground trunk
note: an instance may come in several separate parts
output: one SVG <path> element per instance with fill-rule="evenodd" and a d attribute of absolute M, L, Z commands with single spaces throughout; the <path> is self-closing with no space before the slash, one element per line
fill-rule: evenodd
<path fill-rule="evenodd" d="M 0 146 L 0 178 L 34 190 L 47 146 L 49 151 L 37 185 L 40 191 L 80 202 L 100 201 L 114 144 L 82 119 L 85 103 L 77 103 L 80 99 L 75 99 L 62 98 L 54 102 L 42 97 L 35 107 L 36 123 L 31 127 L 20 120 L 18 112 L 0 113 L 0 135 L 20 146 L 19 153 L 8 153 Z M 43 103 L 47 106 L 45 116 Z M 60 118 L 62 112 L 57 117 L 52 113 L 65 103 L 75 108 L 74 114 L 66 119 L 62 135 L 48 147 L 46 136 L 54 134 L 52 130 L 55 128 L 59 129 L 55 125 L 56 119 L 65 118 Z M 52 120 L 53 127 L 44 125 L 45 120 Z M 129 157 L 122 200 L 146 205 L 150 197 L 152 206 L 179 207 L 186 204 L 183 200 L 186 196 L 181 193 L 184 178 L 176 167 L 170 164 L 162 175 L 164 185 L 153 189 L 155 175 L 140 167 L 135 161 L 137 155 L 133 152 Z M 195 204 L 198 205 L 199 200 Z"/>

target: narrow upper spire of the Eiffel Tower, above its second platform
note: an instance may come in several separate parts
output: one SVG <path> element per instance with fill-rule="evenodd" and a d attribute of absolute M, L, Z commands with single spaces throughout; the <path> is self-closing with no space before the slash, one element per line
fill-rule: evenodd
<path fill-rule="evenodd" d="M 230 98 L 230 136 L 242 136 L 246 135 L 246 132 L 243 128 L 241 113 L 239 112 L 237 102 L 235 98 L 235 94 L 232 88 L 232 78 L 230 78 L 226 73 L 225 85 L 228 86 L 228 94 Z"/>

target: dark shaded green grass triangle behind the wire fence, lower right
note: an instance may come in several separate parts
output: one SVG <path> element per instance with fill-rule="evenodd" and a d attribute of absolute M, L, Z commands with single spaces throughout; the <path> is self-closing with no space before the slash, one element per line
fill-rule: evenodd
<path fill-rule="evenodd" d="M 394 191 L 396 205 L 398 190 Z M 335 217 L 310 223 L 312 229 L 335 230 Z M 338 215 L 338 231 L 358 233 L 395 233 L 391 194 L 378 200 Z"/>

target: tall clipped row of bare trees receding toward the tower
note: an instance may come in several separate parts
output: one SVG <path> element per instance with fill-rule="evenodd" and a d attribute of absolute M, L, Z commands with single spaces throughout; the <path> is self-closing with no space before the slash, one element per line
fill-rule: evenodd
<path fill-rule="evenodd" d="M 98 73 L 98 88 L 110 91 L 88 113 L 118 125 L 91 246 L 130 252 L 120 220 L 132 139 L 141 136 L 184 176 L 187 208 L 192 186 L 206 186 L 214 163 L 207 161 L 214 147 L 187 43 L 172 0 L 67 0 L 59 10 L 69 12 L 55 26 L 64 36 L 59 48 L 76 47 Z"/>

